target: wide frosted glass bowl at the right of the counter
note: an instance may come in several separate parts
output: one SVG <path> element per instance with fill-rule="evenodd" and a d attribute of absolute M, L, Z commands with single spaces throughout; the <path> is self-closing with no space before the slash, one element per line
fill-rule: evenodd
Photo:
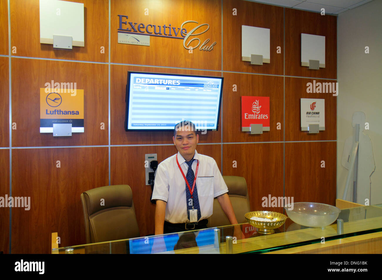
<path fill-rule="evenodd" d="M 332 224 L 340 214 L 340 208 L 332 205 L 316 202 L 296 202 L 292 203 L 293 210 L 289 210 L 291 207 L 284 207 L 288 217 L 301 226 L 306 227 L 321 227 Z"/>

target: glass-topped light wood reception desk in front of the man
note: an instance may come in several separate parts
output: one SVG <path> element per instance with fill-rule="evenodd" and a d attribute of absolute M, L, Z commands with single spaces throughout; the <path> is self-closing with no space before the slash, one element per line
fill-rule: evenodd
<path fill-rule="evenodd" d="M 249 224 L 239 224 L 52 248 L 52 253 L 382 253 L 382 205 L 342 209 L 338 218 L 344 221 L 343 234 L 337 234 L 336 223 L 320 229 L 300 226 L 287 218 L 283 226 L 269 235 L 259 234 Z M 233 237 L 231 245 L 227 243 L 227 236 Z"/>

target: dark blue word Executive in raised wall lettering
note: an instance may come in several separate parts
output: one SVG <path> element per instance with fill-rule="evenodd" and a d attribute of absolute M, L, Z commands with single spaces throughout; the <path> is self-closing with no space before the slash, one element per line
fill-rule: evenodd
<path fill-rule="evenodd" d="M 154 34 L 156 35 L 166 35 L 166 36 L 174 36 L 177 37 L 178 34 L 181 35 L 181 37 L 185 38 L 187 35 L 187 30 L 185 28 L 176 28 L 171 27 L 171 24 L 163 24 L 163 26 L 160 25 L 153 25 L 153 24 L 147 24 L 146 26 L 143 23 L 138 22 L 127 22 L 122 21 L 122 18 L 128 19 L 128 16 L 123 16 L 118 14 L 119 17 L 119 28 L 118 30 L 122 31 L 128 31 L 128 32 L 139 32 L 139 33 L 148 33 L 148 34 Z M 125 24 L 127 28 L 122 28 L 122 24 Z M 138 24 L 138 25 L 137 25 Z M 163 32 L 163 33 L 162 33 Z M 173 32 L 173 33 L 172 33 Z M 180 38 L 180 37 L 178 37 Z"/>

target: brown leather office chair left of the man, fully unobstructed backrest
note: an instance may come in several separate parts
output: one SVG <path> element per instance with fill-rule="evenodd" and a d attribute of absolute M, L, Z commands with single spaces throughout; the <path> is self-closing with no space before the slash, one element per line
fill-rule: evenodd
<path fill-rule="evenodd" d="M 128 185 L 87 190 L 81 194 L 81 202 L 86 243 L 139 237 L 133 193 Z"/>

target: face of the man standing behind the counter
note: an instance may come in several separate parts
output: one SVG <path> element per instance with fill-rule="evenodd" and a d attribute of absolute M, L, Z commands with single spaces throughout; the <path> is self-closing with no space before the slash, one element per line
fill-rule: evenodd
<path fill-rule="evenodd" d="M 196 135 L 195 131 L 178 130 L 172 139 L 182 157 L 186 161 L 191 160 L 195 154 L 196 145 L 199 142 L 199 135 Z"/>

